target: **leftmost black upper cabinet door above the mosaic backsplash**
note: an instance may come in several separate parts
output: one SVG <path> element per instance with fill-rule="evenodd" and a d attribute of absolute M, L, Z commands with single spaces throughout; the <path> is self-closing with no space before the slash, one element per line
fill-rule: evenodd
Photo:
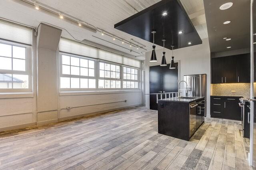
<path fill-rule="evenodd" d="M 212 84 L 223 83 L 223 57 L 212 59 Z"/>

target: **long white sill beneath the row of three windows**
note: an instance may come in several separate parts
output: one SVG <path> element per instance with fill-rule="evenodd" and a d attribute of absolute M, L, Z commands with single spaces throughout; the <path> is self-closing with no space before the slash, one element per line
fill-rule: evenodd
<path fill-rule="evenodd" d="M 138 93 L 138 92 L 141 92 L 141 90 L 61 91 L 60 96 L 101 95 L 101 94 Z"/>

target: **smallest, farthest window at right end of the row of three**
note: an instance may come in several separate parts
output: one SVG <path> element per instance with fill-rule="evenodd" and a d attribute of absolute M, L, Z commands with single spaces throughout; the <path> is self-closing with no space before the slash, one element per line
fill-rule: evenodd
<path fill-rule="evenodd" d="M 137 89 L 139 88 L 138 82 L 138 69 L 123 67 L 123 88 L 124 89 Z"/>

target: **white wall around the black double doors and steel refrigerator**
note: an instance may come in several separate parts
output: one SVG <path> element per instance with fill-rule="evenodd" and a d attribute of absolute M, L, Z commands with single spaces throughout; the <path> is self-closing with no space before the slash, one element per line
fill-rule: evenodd
<path fill-rule="evenodd" d="M 180 62 L 180 80 L 184 75 L 206 74 L 206 100 L 207 116 L 210 117 L 210 47 L 208 38 L 202 40 L 202 44 L 174 50 L 174 61 Z M 166 62 L 170 63 L 171 50 L 166 49 Z M 158 62 L 150 63 L 151 51 L 146 53 L 146 93 L 149 93 L 149 66 L 160 65 L 162 49 L 156 50 Z M 149 108 L 149 96 L 146 96 L 146 107 Z"/>

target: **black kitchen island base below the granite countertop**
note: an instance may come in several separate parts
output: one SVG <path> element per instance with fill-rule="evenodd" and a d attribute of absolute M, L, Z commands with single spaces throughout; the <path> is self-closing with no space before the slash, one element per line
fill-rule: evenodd
<path fill-rule="evenodd" d="M 190 99 L 188 102 L 164 100 L 165 99 L 158 101 L 158 133 L 188 141 L 190 136 L 192 136 L 192 134 L 190 135 L 190 124 L 195 125 L 198 123 L 196 128 L 192 131 L 194 134 L 204 122 L 204 114 L 201 114 L 201 109 L 200 115 L 194 115 L 195 119 L 190 120 L 190 103 L 204 101 L 204 98 Z M 204 105 L 204 103 L 200 104 Z M 198 107 L 195 109 L 196 113 L 199 113 Z"/>

